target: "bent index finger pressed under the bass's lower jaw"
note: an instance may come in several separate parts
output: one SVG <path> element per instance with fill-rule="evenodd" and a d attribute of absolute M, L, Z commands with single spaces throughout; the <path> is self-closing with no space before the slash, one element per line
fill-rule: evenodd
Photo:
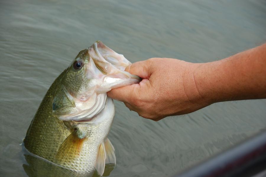
<path fill-rule="evenodd" d="M 139 84 L 133 84 L 130 86 L 124 86 L 119 88 L 114 88 L 107 92 L 107 95 L 112 98 L 119 100 L 121 102 L 131 102 L 131 99 L 137 96 L 137 91 L 140 88 Z"/>

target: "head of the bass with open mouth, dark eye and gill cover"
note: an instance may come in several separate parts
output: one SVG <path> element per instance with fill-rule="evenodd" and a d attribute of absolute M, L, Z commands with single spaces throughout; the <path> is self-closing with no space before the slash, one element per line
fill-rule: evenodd
<path fill-rule="evenodd" d="M 86 121 L 105 107 L 113 88 L 139 83 L 140 78 L 124 69 L 131 63 L 101 41 L 79 52 L 59 76 L 52 114 L 61 120 Z"/>

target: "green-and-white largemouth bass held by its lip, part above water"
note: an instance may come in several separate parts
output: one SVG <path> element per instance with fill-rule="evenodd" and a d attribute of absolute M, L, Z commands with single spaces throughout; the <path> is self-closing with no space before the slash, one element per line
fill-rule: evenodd
<path fill-rule="evenodd" d="M 131 64 L 102 42 L 79 52 L 53 82 L 24 139 L 34 155 L 80 174 L 103 175 L 105 164 L 116 164 L 107 138 L 114 117 L 106 92 L 138 83 L 124 71 Z"/>

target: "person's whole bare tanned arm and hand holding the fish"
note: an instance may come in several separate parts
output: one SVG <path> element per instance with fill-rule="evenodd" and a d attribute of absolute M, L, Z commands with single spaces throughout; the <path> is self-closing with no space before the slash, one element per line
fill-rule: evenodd
<path fill-rule="evenodd" d="M 150 58 L 126 71 L 142 81 L 113 89 L 108 96 L 155 121 L 216 102 L 266 98 L 266 44 L 208 63 Z"/>

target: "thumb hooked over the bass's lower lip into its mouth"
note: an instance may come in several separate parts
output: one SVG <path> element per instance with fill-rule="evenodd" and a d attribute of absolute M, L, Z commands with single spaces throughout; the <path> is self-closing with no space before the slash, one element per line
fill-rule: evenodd
<path fill-rule="evenodd" d="M 151 70 L 150 70 L 150 61 L 149 60 L 144 60 L 140 62 L 135 62 L 132 63 L 131 65 L 127 66 L 125 71 L 137 75 L 141 78 L 150 78 L 151 75 Z"/>

